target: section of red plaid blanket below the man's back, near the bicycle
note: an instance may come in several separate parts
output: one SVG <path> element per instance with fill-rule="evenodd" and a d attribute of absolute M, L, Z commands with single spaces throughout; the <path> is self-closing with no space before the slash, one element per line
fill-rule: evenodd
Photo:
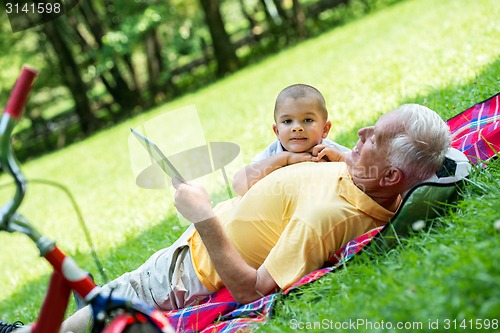
<path fill-rule="evenodd" d="M 328 266 L 311 272 L 279 293 L 271 294 L 249 304 L 239 304 L 226 288 L 205 298 L 200 305 L 165 312 L 176 332 L 186 333 L 232 333 L 252 332 L 259 323 L 263 323 L 270 315 L 278 297 L 292 290 L 316 281 L 323 275 L 342 266 L 368 244 L 380 232 L 380 228 L 370 230 L 366 234 L 350 241 L 328 261 Z"/>

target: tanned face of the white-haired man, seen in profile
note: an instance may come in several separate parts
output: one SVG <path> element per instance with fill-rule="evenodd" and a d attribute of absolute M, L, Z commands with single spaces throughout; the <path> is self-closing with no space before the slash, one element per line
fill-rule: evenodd
<path fill-rule="evenodd" d="M 346 157 L 355 183 L 363 187 L 381 186 L 380 179 L 390 167 L 387 162 L 388 142 L 401 131 L 401 122 L 394 112 L 381 116 L 375 126 L 358 131 L 359 140 Z"/>

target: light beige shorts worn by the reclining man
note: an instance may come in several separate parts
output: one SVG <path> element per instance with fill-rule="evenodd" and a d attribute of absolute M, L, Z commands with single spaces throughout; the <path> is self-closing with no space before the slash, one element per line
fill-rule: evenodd
<path fill-rule="evenodd" d="M 135 271 L 103 286 L 113 295 L 142 301 L 161 310 L 195 305 L 211 292 L 200 282 L 191 260 L 187 238 L 192 226 L 168 248 L 153 254 Z"/>

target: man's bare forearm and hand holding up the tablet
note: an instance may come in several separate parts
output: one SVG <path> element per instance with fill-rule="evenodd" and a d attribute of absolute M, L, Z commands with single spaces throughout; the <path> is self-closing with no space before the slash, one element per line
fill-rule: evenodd
<path fill-rule="evenodd" d="M 205 189 L 196 184 L 174 182 L 175 207 L 195 224 L 215 270 L 239 303 L 250 303 L 278 289 L 278 285 L 262 265 L 249 266 L 224 234 Z"/>

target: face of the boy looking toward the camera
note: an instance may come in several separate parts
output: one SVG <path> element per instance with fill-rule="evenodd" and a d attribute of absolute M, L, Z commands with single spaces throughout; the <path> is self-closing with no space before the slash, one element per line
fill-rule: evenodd
<path fill-rule="evenodd" d="M 276 110 L 274 133 L 283 148 L 293 153 L 306 152 L 327 137 L 331 123 L 318 103 L 310 98 L 287 98 Z"/>

